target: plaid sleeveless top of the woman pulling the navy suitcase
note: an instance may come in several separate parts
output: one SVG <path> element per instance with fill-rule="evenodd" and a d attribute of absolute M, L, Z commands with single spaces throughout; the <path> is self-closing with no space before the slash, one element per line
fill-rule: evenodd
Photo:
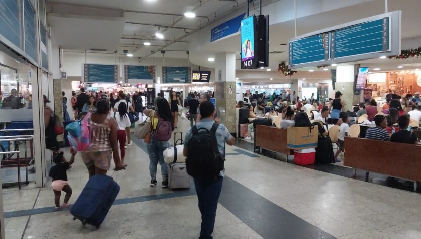
<path fill-rule="evenodd" d="M 111 129 L 108 127 L 108 122 L 110 119 L 111 118 L 107 116 L 103 123 L 98 124 L 92 121 L 91 115 L 89 116 L 88 125 L 90 126 L 92 139 L 89 149 L 85 152 L 102 152 L 111 150 Z"/>

